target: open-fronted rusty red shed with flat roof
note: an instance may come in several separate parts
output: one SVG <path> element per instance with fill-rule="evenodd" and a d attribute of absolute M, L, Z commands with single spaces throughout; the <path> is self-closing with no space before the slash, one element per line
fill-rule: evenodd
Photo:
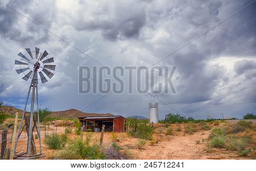
<path fill-rule="evenodd" d="M 99 132 L 102 125 L 105 125 L 105 131 L 124 132 L 126 130 L 127 119 L 122 116 L 80 117 L 79 120 L 85 131 Z"/>

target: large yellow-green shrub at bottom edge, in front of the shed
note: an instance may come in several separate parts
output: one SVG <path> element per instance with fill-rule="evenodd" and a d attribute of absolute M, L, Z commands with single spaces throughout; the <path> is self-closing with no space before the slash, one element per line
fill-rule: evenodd
<path fill-rule="evenodd" d="M 57 155 L 58 159 L 104 159 L 105 155 L 99 145 L 90 146 L 88 142 L 84 142 L 81 138 L 70 140 L 68 146 L 60 151 Z"/>

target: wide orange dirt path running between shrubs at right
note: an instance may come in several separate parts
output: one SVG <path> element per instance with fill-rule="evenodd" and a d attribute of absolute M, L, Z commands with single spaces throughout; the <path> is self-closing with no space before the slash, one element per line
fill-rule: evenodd
<path fill-rule="evenodd" d="M 203 135 L 202 135 L 203 134 Z M 199 131 L 192 135 L 183 134 L 172 136 L 163 135 L 164 139 L 154 146 L 147 145 L 144 149 L 130 149 L 134 159 L 243 159 L 238 157 L 236 152 L 230 152 L 226 149 L 212 149 L 207 152 L 207 138 L 210 131 Z M 205 139 L 202 142 L 202 139 Z M 200 140 L 200 144 L 196 144 Z M 132 148 L 135 140 L 127 140 L 122 143 L 123 146 Z"/>

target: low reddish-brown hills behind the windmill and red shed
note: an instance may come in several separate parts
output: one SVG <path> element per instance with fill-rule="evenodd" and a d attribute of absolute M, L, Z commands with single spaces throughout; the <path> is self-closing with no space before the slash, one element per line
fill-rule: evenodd
<path fill-rule="evenodd" d="M 14 115 L 16 112 L 22 114 L 23 110 L 17 109 L 13 106 L 2 106 L 0 108 L 0 113 Z M 77 118 L 77 117 L 100 117 L 100 116 L 113 116 L 111 113 L 85 113 L 77 109 L 68 109 L 63 111 L 51 112 L 51 117 L 60 118 Z"/>

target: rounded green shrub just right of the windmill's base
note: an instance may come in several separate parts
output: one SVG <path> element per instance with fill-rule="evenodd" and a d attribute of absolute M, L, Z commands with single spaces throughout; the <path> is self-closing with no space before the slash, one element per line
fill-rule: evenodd
<path fill-rule="evenodd" d="M 67 135 L 46 135 L 46 138 L 44 138 L 44 143 L 46 146 L 50 149 L 62 149 L 66 146 L 68 141 Z"/>

